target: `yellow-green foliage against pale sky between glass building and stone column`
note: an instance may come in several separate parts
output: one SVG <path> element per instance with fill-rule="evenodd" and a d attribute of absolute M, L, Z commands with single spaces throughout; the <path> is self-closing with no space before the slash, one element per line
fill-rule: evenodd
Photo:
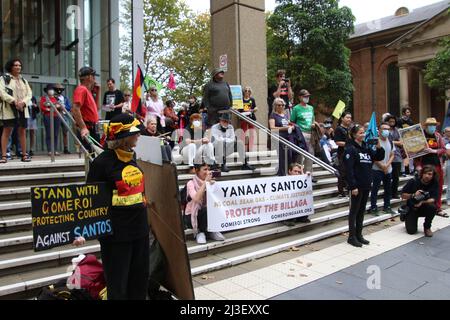
<path fill-rule="evenodd" d="M 131 0 L 121 0 L 121 87 L 132 86 Z M 144 0 L 143 72 L 166 85 L 174 71 L 177 90 L 165 90 L 170 98 L 184 101 L 188 94 L 200 94 L 209 78 L 211 40 L 210 15 L 195 14 L 181 0 Z"/>

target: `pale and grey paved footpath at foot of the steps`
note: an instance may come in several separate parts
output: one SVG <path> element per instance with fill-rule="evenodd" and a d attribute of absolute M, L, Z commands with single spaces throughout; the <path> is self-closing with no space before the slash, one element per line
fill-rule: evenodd
<path fill-rule="evenodd" d="M 450 299 L 450 219 L 436 217 L 433 238 L 404 224 L 195 289 L 198 300 Z M 379 277 L 377 277 L 379 275 Z M 369 283 L 369 284 L 368 284 Z M 379 284 L 379 289 L 377 285 Z"/>

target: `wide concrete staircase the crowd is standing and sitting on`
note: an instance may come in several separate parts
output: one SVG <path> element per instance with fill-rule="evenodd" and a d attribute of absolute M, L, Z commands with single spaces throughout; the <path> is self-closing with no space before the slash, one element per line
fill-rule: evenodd
<path fill-rule="evenodd" d="M 236 155 L 233 155 L 236 156 Z M 276 153 L 252 154 L 257 170 L 241 171 L 242 164 L 229 163 L 231 172 L 219 180 L 246 179 L 274 176 Z M 175 156 L 177 163 L 181 158 Z M 179 164 L 180 188 L 192 175 L 188 166 Z M 32 249 L 30 186 L 63 185 L 84 181 L 84 161 L 80 159 L 58 159 L 29 164 L 8 163 L 0 166 L 0 299 L 29 299 L 35 297 L 46 285 L 67 277 L 73 257 L 92 253 L 99 256 L 97 241 L 90 241 L 82 248 L 72 246 L 54 248 L 36 253 Z M 309 244 L 347 231 L 348 199 L 337 198 L 337 179 L 316 167 L 314 176 L 315 215 L 311 223 L 287 227 L 273 223 L 245 230 L 227 232 L 226 241 L 197 245 L 190 230 L 186 230 L 186 241 L 193 275 L 227 268 L 260 257 L 276 254 L 294 246 Z M 408 178 L 402 178 L 401 185 Z M 383 192 L 379 194 L 381 205 Z M 396 207 L 399 200 L 393 200 Z M 390 219 L 390 215 L 367 216 L 366 223 L 378 223 Z"/>

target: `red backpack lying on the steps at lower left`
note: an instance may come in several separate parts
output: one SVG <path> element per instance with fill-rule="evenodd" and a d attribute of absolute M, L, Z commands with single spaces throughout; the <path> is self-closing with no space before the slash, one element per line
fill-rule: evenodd
<path fill-rule="evenodd" d="M 102 263 L 94 255 L 87 255 L 77 264 L 67 284 L 76 289 L 85 289 L 92 299 L 99 299 L 99 293 L 106 287 Z"/>

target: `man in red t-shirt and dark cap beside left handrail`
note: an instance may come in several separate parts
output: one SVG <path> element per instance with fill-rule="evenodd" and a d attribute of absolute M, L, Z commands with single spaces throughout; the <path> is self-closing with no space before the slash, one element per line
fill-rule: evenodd
<path fill-rule="evenodd" d="M 75 124 L 79 129 L 79 137 L 87 150 L 91 150 L 90 144 L 84 140 L 87 136 L 91 136 L 100 141 L 98 134 L 98 90 L 99 86 L 95 82 L 96 72 L 91 67 L 83 67 L 80 69 L 78 76 L 80 85 L 76 87 L 73 93 L 72 115 Z M 94 97 L 95 95 L 95 97 Z"/>

